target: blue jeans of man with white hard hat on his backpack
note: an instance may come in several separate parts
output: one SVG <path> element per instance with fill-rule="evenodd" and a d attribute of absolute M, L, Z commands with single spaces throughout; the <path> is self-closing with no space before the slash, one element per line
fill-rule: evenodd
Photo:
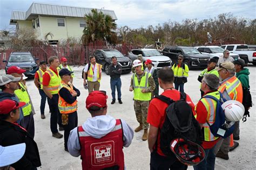
<path fill-rule="evenodd" d="M 216 146 L 216 145 L 215 145 Z M 214 170 L 215 165 L 215 146 L 210 149 L 205 149 L 205 159 L 198 165 L 193 166 L 195 170 Z"/>

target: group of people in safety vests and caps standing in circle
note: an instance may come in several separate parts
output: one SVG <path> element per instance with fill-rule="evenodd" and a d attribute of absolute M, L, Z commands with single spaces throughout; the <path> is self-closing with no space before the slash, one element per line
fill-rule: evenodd
<path fill-rule="evenodd" d="M 237 100 L 242 103 L 243 89 L 250 89 L 248 69 L 244 68 L 242 59 L 228 59 L 228 51 L 218 62 L 208 60 L 198 80 L 200 81 L 201 97 L 206 95 L 220 99 L 220 93 L 226 100 Z M 164 67 L 157 70 L 150 59 L 145 61 L 142 56 L 133 61 L 133 74 L 129 91 L 133 91 L 134 112 L 139 126 L 135 132 L 143 130 L 142 140 L 148 140 L 151 153 L 151 169 L 187 169 L 174 154 L 170 157 L 161 151 L 160 131 L 166 117 L 168 105 L 154 98 L 159 94 L 159 86 L 164 90 L 162 96 L 174 101 L 184 92 L 184 83 L 187 82 L 188 66 L 183 63 L 183 56 L 178 56 L 178 63 L 171 68 Z M 102 65 L 96 63 L 94 56 L 83 70 L 84 87 L 88 89 L 86 109 L 91 114 L 83 125 L 78 126 L 77 97 L 80 91 L 73 86 L 73 71 L 67 65 L 67 59 L 62 57 L 59 64 L 58 57 L 50 57 L 48 62 L 41 61 L 40 69 L 35 75 L 34 83 L 41 95 L 41 118 L 45 119 L 44 110 L 46 99 L 50 108 L 50 128 L 52 137 L 63 138 L 58 132 L 64 130 L 64 149 L 73 157 L 81 156 L 83 169 L 124 169 L 123 147 L 130 146 L 133 139 L 133 130 L 123 119 L 114 119 L 107 115 L 107 95 L 100 91 Z M 221 62 L 222 61 L 222 62 Z M 47 68 L 47 64 L 50 65 Z M 35 126 L 33 120 L 33 106 L 28 90 L 22 83 L 25 70 L 16 66 L 9 67 L 7 74 L 0 76 L 0 145 L 10 146 L 26 144 L 22 159 L 11 167 L 15 169 L 36 169 L 41 166 L 41 160 L 36 142 L 33 140 Z M 235 74 L 236 72 L 236 74 Z M 116 57 L 112 57 L 109 67 L 112 102 L 123 104 L 121 96 L 122 81 L 120 75 L 122 67 Z M 179 91 L 180 92 L 179 92 Z M 235 123 L 233 135 L 228 138 L 214 137 L 210 125 L 214 123 L 216 101 L 210 98 L 201 98 L 196 105 L 186 94 L 186 103 L 191 107 L 194 117 L 198 121 L 203 139 L 201 146 L 205 150 L 205 159 L 194 169 L 214 169 L 215 157 L 228 159 L 228 152 L 238 146 L 239 121 Z M 250 108 L 245 108 L 247 111 Z"/>

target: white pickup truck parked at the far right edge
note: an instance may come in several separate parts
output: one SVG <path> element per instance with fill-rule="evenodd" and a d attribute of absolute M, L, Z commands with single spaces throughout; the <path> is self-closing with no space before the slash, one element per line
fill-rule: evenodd
<path fill-rule="evenodd" d="M 224 50 L 228 50 L 233 53 L 237 53 L 241 59 L 245 60 L 245 64 L 252 63 L 256 65 L 256 51 L 255 49 L 249 49 L 246 44 L 228 44 L 221 46 Z"/>

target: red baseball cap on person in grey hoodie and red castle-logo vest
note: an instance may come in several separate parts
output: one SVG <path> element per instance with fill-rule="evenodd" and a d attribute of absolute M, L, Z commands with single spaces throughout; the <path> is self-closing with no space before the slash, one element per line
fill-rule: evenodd
<path fill-rule="evenodd" d="M 102 108 L 107 106 L 106 101 L 107 95 L 105 91 L 92 91 L 86 98 L 85 104 L 87 110 L 90 110 L 92 106 L 98 106 L 100 108 L 99 110 L 102 110 Z"/>

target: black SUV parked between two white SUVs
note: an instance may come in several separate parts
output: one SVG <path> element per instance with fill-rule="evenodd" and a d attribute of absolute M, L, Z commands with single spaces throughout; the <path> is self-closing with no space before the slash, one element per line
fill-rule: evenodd
<path fill-rule="evenodd" d="M 188 46 L 165 46 L 162 53 L 170 57 L 173 63 L 178 63 L 178 56 L 183 55 L 183 62 L 190 69 L 206 68 L 207 60 L 210 59 L 208 55 L 203 55 L 194 47 Z"/>

